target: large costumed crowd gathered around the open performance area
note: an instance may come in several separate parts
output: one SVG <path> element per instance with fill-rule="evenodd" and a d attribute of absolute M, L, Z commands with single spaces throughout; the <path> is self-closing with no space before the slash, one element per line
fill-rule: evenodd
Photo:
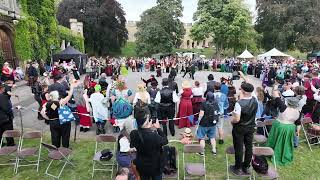
<path fill-rule="evenodd" d="M 218 144 L 224 143 L 224 122 L 231 119 L 236 153 L 235 165 L 230 168 L 233 173 L 243 175 L 250 173 L 256 120 L 275 119 L 267 146 L 274 149 L 276 161 L 281 165 L 293 161 L 294 147 L 299 145 L 301 119 L 310 117 L 319 123 L 320 79 L 316 61 L 245 62 L 233 58 L 178 57 L 157 61 L 154 58 L 101 60 L 92 57 L 86 63 L 83 81 L 73 61 L 56 62 L 48 71 L 40 69 L 38 63 L 30 63 L 24 75 L 39 104 L 38 119 L 50 126 L 52 144 L 69 147 L 73 119 L 83 133 L 90 131 L 94 124 L 97 135 L 119 133 L 117 160 L 120 167 L 129 168 L 133 161 L 143 180 L 161 179 L 161 153 L 162 147 L 168 144 L 168 130 L 171 136 L 176 136 L 177 128 L 189 132 L 189 128 L 196 126 L 194 140 L 204 148 L 208 138 L 211 152 L 216 155 L 216 140 Z M 129 70 L 154 73 L 147 80 L 141 79 L 134 93 L 126 83 Z M 236 93 L 232 79 L 215 79 L 210 74 L 207 83 L 200 84 L 198 80 L 185 78 L 189 74 L 194 80 L 197 70 L 230 72 L 232 79 L 239 76 L 243 83 Z M 175 82 L 179 74 L 185 78 L 181 89 Z M 255 87 L 247 74 L 260 78 L 261 85 Z M 161 84 L 156 77 L 163 77 Z M 4 82 L 0 85 L 2 135 L 5 130 L 13 129 L 10 97 L 14 95 L 11 88 L 16 79 L 7 63 L 3 66 L 1 80 Z M 7 101 L 4 103 L 4 100 Z M 228 118 L 230 113 L 232 117 Z M 190 136 L 177 139 L 186 137 Z M 7 145 L 13 144 L 12 139 L 7 139 Z"/>

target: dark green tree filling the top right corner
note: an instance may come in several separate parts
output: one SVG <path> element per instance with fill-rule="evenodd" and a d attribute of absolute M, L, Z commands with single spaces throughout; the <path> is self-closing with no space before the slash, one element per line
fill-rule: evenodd
<path fill-rule="evenodd" d="M 256 30 L 265 49 L 320 49 L 320 1 L 257 0 Z"/>

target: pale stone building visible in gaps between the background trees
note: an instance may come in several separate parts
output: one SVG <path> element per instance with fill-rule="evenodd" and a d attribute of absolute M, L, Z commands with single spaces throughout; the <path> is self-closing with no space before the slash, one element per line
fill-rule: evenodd
<path fill-rule="evenodd" d="M 135 42 L 136 38 L 134 34 L 138 31 L 137 30 L 137 22 L 136 21 L 128 21 L 126 24 L 128 30 L 128 42 Z M 212 43 L 212 38 L 205 39 L 203 41 L 194 41 L 190 37 L 192 23 L 184 23 L 184 28 L 186 30 L 186 34 L 183 38 L 180 48 L 182 49 L 202 49 L 206 47 L 210 47 Z"/>

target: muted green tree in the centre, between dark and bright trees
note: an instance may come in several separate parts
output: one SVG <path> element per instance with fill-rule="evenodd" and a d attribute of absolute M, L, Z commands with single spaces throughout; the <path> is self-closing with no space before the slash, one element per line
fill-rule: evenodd
<path fill-rule="evenodd" d="M 137 54 L 150 56 L 160 52 L 171 52 L 181 45 L 185 29 L 181 0 L 158 0 L 157 5 L 143 12 L 135 34 Z"/>

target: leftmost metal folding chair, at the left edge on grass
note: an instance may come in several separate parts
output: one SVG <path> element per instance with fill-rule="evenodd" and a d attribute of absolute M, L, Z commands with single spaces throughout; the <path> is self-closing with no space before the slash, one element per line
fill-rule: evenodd
<path fill-rule="evenodd" d="M 13 165 L 13 172 L 16 170 L 16 161 L 17 156 L 16 152 L 18 150 L 18 145 L 15 146 L 3 146 L 3 141 L 5 138 L 13 138 L 15 139 L 15 142 L 18 142 L 18 145 L 20 144 L 21 140 L 21 133 L 17 130 L 7 130 L 2 134 L 1 142 L 0 142 L 0 158 L 5 159 L 7 162 L 0 164 L 0 166 L 9 166 Z M 16 141 L 16 139 L 18 139 Z"/>

